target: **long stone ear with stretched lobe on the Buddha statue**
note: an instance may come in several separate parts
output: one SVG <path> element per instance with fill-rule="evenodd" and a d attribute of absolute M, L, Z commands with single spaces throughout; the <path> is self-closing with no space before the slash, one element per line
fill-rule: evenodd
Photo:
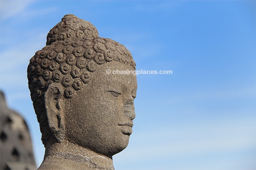
<path fill-rule="evenodd" d="M 44 103 L 46 108 L 49 128 L 58 140 L 62 142 L 65 135 L 64 127 L 64 88 L 58 83 L 49 85 L 44 94 Z"/>

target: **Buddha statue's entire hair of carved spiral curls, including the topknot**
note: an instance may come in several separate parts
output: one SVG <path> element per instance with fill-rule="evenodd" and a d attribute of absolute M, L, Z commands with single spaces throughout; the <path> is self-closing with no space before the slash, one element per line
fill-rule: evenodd
<path fill-rule="evenodd" d="M 96 65 L 117 61 L 131 65 L 135 62 L 124 45 L 99 37 L 97 29 L 88 21 L 73 14 L 65 15 L 47 35 L 44 48 L 30 59 L 27 76 L 30 96 L 42 133 L 42 142 L 52 136 L 44 103 L 44 94 L 52 83 L 63 87 L 65 99 L 86 87 Z"/>

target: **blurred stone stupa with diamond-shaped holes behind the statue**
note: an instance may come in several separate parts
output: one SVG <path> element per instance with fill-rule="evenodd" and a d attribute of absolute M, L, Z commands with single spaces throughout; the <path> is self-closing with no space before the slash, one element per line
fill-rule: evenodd
<path fill-rule="evenodd" d="M 35 170 L 29 129 L 23 117 L 9 109 L 0 92 L 0 170 Z"/>

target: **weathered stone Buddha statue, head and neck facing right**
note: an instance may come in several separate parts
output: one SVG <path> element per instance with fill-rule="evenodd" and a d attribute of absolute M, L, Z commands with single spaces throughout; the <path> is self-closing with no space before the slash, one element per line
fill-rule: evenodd
<path fill-rule="evenodd" d="M 73 14 L 47 35 L 28 66 L 31 98 L 46 151 L 40 170 L 113 170 L 132 133 L 137 80 L 131 53 Z"/>

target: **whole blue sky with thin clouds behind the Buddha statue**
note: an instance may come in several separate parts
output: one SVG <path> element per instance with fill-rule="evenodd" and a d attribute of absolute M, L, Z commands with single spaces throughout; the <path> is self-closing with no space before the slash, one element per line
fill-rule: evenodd
<path fill-rule="evenodd" d="M 0 0 L 0 88 L 44 156 L 26 68 L 65 14 L 125 45 L 138 75 L 136 118 L 116 170 L 256 169 L 256 1 Z"/>

